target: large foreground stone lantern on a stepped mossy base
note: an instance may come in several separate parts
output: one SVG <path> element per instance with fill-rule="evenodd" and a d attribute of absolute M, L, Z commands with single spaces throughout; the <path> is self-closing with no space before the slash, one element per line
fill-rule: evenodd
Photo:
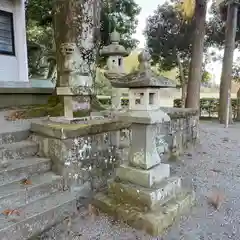
<path fill-rule="evenodd" d="M 175 84 L 156 76 L 149 60 L 150 55 L 143 51 L 139 54 L 139 70 L 113 83 L 129 88 L 129 110 L 118 117 L 132 123 L 132 139 L 128 162 L 116 169 L 107 193 L 98 193 L 94 204 L 132 227 L 159 236 L 189 209 L 194 194 L 182 188 L 179 177 L 170 177 L 169 164 L 161 161 L 170 117 L 160 108 L 160 89 Z"/>

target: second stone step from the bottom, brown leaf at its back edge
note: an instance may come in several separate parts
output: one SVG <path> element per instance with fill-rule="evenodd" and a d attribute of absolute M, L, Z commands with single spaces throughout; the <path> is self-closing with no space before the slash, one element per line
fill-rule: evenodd
<path fill-rule="evenodd" d="M 17 208 L 63 190 L 63 177 L 53 172 L 37 174 L 28 180 L 29 185 L 17 181 L 0 187 L 1 212 L 4 209 Z"/>

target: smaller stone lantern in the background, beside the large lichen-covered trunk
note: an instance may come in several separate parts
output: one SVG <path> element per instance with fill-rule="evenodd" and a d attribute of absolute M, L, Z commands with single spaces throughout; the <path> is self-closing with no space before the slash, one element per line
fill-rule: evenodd
<path fill-rule="evenodd" d="M 110 45 L 104 46 L 100 50 L 100 55 L 107 57 L 107 73 L 108 74 L 124 74 L 123 58 L 129 55 L 124 46 L 119 44 L 120 34 L 114 30 L 110 34 Z M 105 75 L 109 78 L 109 75 Z M 121 90 L 116 89 L 112 93 L 112 110 L 121 109 Z"/>

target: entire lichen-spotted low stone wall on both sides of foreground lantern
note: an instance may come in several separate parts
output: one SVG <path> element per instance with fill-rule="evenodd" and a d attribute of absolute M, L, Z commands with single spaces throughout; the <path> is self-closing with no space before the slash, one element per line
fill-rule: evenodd
<path fill-rule="evenodd" d="M 176 158 L 194 143 L 198 136 L 197 112 L 164 108 L 171 124 L 158 126 L 158 152 L 164 158 Z M 67 125 L 49 122 L 33 123 L 31 139 L 39 143 L 39 155 L 53 161 L 53 170 L 65 178 L 73 190 L 99 191 L 117 166 L 128 160 L 130 123 L 101 120 L 87 124 Z M 158 132 L 157 131 L 157 132 Z"/>

